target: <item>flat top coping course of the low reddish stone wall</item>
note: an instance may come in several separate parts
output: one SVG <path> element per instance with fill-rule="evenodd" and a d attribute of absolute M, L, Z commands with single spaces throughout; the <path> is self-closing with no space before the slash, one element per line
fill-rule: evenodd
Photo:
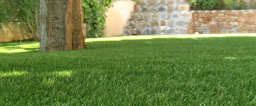
<path fill-rule="evenodd" d="M 199 10 L 199 11 L 191 11 L 192 13 L 215 13 L 215 12 L 256 12 L 256 10 Z"/>

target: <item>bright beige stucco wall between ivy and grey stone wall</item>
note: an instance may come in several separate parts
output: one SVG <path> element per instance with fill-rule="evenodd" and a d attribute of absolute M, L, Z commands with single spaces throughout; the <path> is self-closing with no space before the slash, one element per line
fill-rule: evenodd
<path fill-rule="evenodd" d="M 103 31 L 106 37 L 120 36 L 123 28 L 130 19 L 130 13 L 134 10 L 136 2 L 132 0 L 120 0 L 113 3 L 113 7 L 106 12 L 106 29 Z"/>

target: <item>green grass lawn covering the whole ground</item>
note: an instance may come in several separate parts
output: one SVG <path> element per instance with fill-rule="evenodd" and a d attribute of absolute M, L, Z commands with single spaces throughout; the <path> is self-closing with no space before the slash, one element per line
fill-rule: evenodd
<path fill-rule="evenodd" d="M 140 37 L 0 43 L 0 105 L 256 105 L 256 37 Z"/>

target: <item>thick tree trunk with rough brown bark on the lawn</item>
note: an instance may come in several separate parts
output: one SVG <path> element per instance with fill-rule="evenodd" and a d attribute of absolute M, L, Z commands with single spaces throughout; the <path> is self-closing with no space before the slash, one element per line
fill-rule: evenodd
<path fill-rule="evenodd" d="M 40 51 L 86 48 L 82 0 L 40 0 Z"/>

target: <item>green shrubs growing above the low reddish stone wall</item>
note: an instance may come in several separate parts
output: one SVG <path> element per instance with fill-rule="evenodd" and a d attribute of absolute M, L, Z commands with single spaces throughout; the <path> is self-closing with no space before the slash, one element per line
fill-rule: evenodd
<path fill-rule="evenodd" d="M 193 10 L 241 10 L 251 9 L 236 0 L 190 0 Z"/>

